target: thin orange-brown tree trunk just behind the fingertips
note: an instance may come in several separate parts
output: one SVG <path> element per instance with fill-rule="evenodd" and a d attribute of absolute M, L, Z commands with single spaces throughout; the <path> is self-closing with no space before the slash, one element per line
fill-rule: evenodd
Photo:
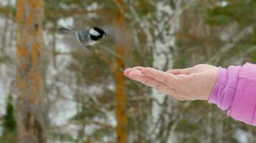
<path fill-rule="evenodd" d="M 119 5 L 123 5 L 122 0 L 116 1 Z M 119 30 L 124 30 L 126 26 L 126 19 L 122 15 L 119 8 L 116 8 L 116 19 L 115 19 L 116 28 Z M 125 55 L 124 45 L 122 43 L 116 42 L 116 54 L 120 56 Z M 124 69 L 124 60 L 116 57 L 116 66 L 115 66 L 115 79 L 116 79 L 116 133 L 119 143 L 127 142 L 127 94 L 126 94 L 126 84 L 124 81 L 124 76 L 122 74 L 122 69 Z"/>

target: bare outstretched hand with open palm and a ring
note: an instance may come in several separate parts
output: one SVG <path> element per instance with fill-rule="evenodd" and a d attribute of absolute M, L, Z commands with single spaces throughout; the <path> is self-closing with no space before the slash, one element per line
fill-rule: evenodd
<path fill-rule="evenodd" d="M 188 69 L 164 72 L 135 66 L 126 69 L 124 75 L 179 100 L 208 100 L 217 82 L 218 68 L 209 64 L 198 64 Z"/>

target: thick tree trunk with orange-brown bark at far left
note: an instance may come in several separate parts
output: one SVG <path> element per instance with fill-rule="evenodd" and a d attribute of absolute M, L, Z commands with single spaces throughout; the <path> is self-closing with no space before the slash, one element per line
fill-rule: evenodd
<path fill-rule="evenodd" d="M 17 122 L 20 143 L 44 143 L 43 1 L 17 0 Z"/>

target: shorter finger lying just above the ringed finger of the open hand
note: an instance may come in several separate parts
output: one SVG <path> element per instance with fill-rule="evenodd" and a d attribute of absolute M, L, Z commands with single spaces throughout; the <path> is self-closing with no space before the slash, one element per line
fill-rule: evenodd
<path fill-rule="evenodd" d="M 178 86 L 178 79 L 174 74 L 168 74 L 164 71 L 160 71 L 150 67 L 143 69 L 142 74 L 145 74 L 148 77 L 152 77 L 158 82 L 163 82 L 163 84 L 166 84 L 174 89 Z"/>

